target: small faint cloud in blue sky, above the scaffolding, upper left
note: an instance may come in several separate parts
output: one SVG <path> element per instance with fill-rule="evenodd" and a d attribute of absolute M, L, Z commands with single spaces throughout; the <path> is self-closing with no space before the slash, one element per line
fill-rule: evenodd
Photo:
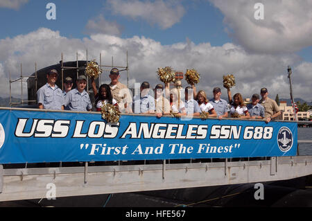
<path fill-rule="evenodd" d="M 106 35 L 121 35 L 122 27 L 116 21 L 107 21 L 103 15 L 99 15 L 95 19 L 89 19 L 85 27 L 87 33 L 103 33 Z"/>

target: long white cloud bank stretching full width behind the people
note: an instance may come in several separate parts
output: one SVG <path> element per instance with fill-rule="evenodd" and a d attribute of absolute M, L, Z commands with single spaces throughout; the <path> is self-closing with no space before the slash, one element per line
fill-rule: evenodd
<path fill-rule="evenodd" d="M 190 40 L 173 45 L 162 45 L 154 39 L 146 37 L 131 37 L 123 39 L 112 35 L 96 34 L 84 39 L 68 39 L 59 32 L 48 28 L 40 28 L 26 35 L 0 40 L 0 88 L 1 97 L 8 96 L 8 71 L 12 79 L 19 77 L 19 64 L 23 64 L 24 75 L 34 72 L 35 61 L 38 69 L 58 64 L 61 53 L 64 61 L 85 60 L 85 50 L 88 49 L 88 59 L 99 60 L 102 53 L 102 63 L 110 64 L 114 56 L 116 66 L 125 66 L 125 52 L 129 55 L 130 87 L 134 82 L 147 80 L 155 87 L 157 68 L 171 66 L 177 71 L 197 69 L 201 75 L 198 89 L 205 89 L 209 97 L 214 87 L 223 88 L 223 75 L 234 73 L 236 87 L 233 93 L 241 92 L 244 97 L 254 93 L 259 94 L 261 87 L 267 87 L 272 98 L 289 97 L 287 66 L 293 67 L 294 96 L 311 99 L 312 63 L 301 62 L 295 54 L 261 55 L 250 54 L 242 46 L 232 43 L 223 46 L 211 46 L 209 42 L 194 44 Z M 126 84 L 125 72 L 121 73 L 121 82 Z M 109 82 L 105 72 L 103 82 Z M 183 81 L 186 86 L 186 82 Z M 18 96 L 20 85 L 14 90 Z M 25 85 L 26 90 L 26 85 Z M 226 90 L 223 89 L 223 96 Z"/>

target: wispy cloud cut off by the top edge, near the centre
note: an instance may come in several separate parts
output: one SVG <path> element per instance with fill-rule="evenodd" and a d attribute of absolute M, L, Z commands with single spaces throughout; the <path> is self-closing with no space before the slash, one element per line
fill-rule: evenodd
<path fill-rule="evenodd" d="M 157 24 L 167 29 L 180 21 L 185 10 L 179 1 L 139 1 L 139 0 L 109 0 L 108 6 L 116 15 L 142 19 L 149 24 Z"/>

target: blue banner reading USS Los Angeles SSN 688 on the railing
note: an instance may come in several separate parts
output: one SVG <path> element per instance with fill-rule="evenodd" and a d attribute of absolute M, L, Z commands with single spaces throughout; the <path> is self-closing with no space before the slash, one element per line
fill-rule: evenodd
<path fill-rule="evenodd" d="M 0 163 L 280 157 L 297 123 L 0 109 Z"/>

